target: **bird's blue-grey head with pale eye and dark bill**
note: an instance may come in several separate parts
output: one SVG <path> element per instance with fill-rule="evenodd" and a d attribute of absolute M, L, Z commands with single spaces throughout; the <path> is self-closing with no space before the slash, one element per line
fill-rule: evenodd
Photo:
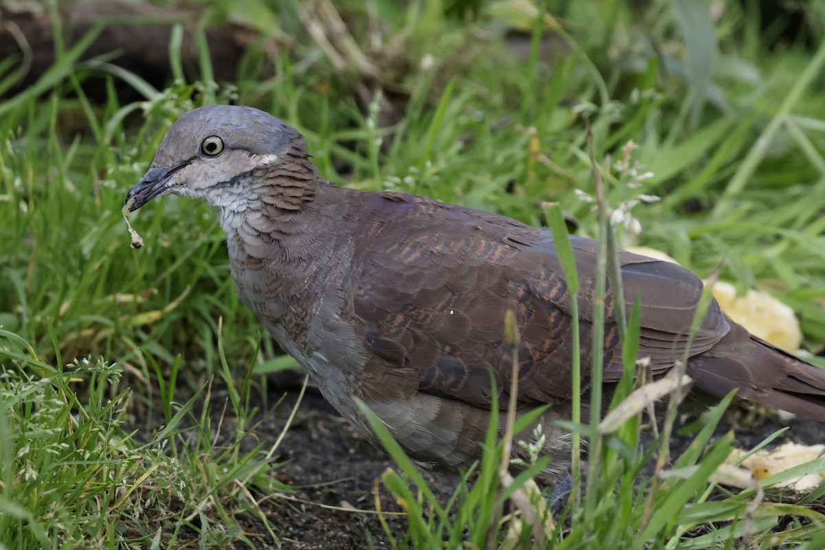
<path fill-rule="evenodd" d="M 247 176 L 289 157 L 306 157 L 304 140 L 274 116 L 252 107 L 200 107 L 167 131 L 152 166 L 126 195 L 126 208 L 134 212 L 157 196 L 181 195 L 242 209 L 253 192 L 254 178 Z"/>

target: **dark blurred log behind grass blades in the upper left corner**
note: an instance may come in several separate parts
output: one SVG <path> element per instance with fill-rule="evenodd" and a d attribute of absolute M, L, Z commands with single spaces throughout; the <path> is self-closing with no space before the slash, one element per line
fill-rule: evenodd
<path fill-rule="evenodd" d="M 82 59 L 115 53 L 112 63 L 136 73 L 158 89 L 165 87 L 172 78 L 169 42 L 172 26 L 180 23 L 183 26 L 183 66 L 189 76 L 198 75 L 196 26 L 200 12 L 195 7 L 73 2 L 61 3 L 59 16 L 66 49 L 76 44 L 95 25 L 105 23 L 105 28 L 87 48 Z M 205 33 L 215 79 L 233 82 L 241 55 L 247 45 L 257 39 L 257 32 L 243 26 L 224 24 L 209 27 Z M 31 86 L 54 63 L 54 32 L 50 13 L 45 8 L 22 12 L 0 5 L 0 59 L 10 58 L 16 59 L 17 63 L 0 78 L 21 66 L 25 67 L 25 73 L 6 92 L 6 96 Z M 141 99 L 127 84 L 117 79 L 115 81 L 121 101 Z M 106 98 L 105 81 L 101 78 L 92 78 L 84 82 L 83 87 L 92 100 L 103 101 Z"/>

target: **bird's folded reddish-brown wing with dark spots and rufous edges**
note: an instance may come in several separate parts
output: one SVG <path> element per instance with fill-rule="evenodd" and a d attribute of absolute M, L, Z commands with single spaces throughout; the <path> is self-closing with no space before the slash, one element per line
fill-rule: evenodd
<path fill-rule="evenodd" d="M 503 341 L 504 313 L 515 298 L 521 328 L 519 399 L 553 402 L 572 392 L 571 296 L 546 230 L 479 210 L 414 195 L 362 194 L 360 266 L 352 313 L 369 362 L 412 369 L 419 388 L 488 405 L 490 373 L 509 384 L 512 349 Z M 582 365 L 592 361 L 596 242 L 573 237 L 579 272 Z M 702 284 L 690 271 L 629 252 L 620 255 L 625 303 L 642 303 L 640 355 L 653 370 L 681 358 Z M 604 375 L 621 376 L 621 343 L 608 280 Z M 705 317 L 690 355 L 728 331 L 719 308 Z M 378 366 L 378 365 L 375 365 Z M 584 379 L 582 386 L 587 388 Z"/>

